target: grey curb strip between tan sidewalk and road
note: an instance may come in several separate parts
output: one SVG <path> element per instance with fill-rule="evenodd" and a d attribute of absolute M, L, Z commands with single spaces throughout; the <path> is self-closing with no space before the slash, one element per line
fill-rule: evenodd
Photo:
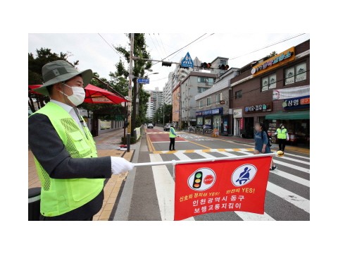
<path fill-rule="evenodd" d="M 139 148 L 141 147 L 142 136 L 137 142 L 137 145 L 134 149 L 134 155 L 132 156 L 132 163 L 137 163 L 139 159 Z M 113 221 L 127 221 L 129 217 L 130 204 L 132 202 L 132 191 L 134 188 L 136 170 L 132 170 L 127 175 L 125 184 L 123 186 L 123 191 L 120 195 L 120 200 L 118 201 L 118 206 L 113 217 Z"/>

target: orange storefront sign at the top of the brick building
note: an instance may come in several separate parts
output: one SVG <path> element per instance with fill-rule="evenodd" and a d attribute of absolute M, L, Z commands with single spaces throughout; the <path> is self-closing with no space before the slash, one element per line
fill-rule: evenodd
<path fill-rule="evenodd" d="M 294 47 L 285 50 L 284 52 L 277 54 L 270 59 L 263 61 L 262 63 L 256 64 L 251 69 L 252 75 L 260 75 L 267 71 L 271 71 L 278 66 L 283 65 L 289 61 L 294 61 Z"/>

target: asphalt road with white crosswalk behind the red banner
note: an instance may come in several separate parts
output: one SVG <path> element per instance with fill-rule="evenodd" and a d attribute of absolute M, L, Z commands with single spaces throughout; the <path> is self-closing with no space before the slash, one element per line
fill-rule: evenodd
<path fill-rule="evenodd" d="M 179 132 L 175 151 L 169 151 L 168 132 L 147 129 L 142 139 L 138 162 L 161 162 L 250 155 L 251 145 Z M 272 147 L 274 148 L 274 147 Z M 310 157 L 288 152 L 274 157 L 277 169 L 270 171 L 265 195 L 265 214 L 218 212 L 189 220 L 310 220 Z M 173 166 L 161 165 L 136 169 L 129 220 L 173 220 L 175 180 Z"/>

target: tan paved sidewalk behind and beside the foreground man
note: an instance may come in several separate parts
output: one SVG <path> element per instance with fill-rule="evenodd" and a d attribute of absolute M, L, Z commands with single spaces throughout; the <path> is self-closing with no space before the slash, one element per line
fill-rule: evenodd
<path fill-rule="evenodd" d="M 118 156 L 124 157 L 128 161 L 131 161 L 134 150 L 131 145 L 130 152 L 116 150 L 120 145 L 121 137 L 123 136 L 123 129 L 103 133 L 98 137 L 95 137 L 97 153 L 99 157 L 102 156 Z M 117 205 L 116 199 L 118 193 L 123 185 L 123 182 L 127 178 L 127 173 L 112 175 L 110 179 L 106 179 L 104 186 L 104 204 L 101 210 L 94 215 L 93 220 L 110 220 L 111 214 Z M 28 150 L 28 188 L 41 187 L 37 171 L 35 169 L 35 162 L 32 152 Z"/>

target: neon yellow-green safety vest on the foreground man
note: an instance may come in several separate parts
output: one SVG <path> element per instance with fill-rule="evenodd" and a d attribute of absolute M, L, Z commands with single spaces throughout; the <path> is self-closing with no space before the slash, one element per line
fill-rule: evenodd
<path fill-rule="evenodd" d="M 49 117 L 72 158 L 97 157 L 95 142 L 87 126 L 84 133 L 62 107 L 49 102 L 35 114 Z M 52 179 L 35 159 L 37 174 L 42 184 L 40 212 L 46 217 L 58 216 L 86 204 L 104 188 L 104 179 Z"/>

